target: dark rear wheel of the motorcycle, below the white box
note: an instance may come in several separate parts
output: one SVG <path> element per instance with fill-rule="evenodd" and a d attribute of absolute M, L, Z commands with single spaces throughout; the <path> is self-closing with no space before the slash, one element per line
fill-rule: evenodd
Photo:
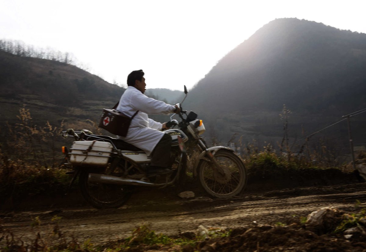
<path fill-rule="evenodd" d="M 90 171 L 90 173 L 94 173 Z M 93 207 L 118 208 L 131 196 L 132 190 L 127 185 L 102 184 L 89 181 L 89 171 L 81 171 L 79 187 L 84 199 Z"/>

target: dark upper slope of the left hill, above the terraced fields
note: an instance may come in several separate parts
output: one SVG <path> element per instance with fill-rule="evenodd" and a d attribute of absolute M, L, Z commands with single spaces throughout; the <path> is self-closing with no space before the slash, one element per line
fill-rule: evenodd
<path fill-rule="evenodd" d="M 70 64 L 0 51 L 1 96 L 36 95 L 57 105 L 118 97 L 123 88 Z M 118 94 L 119 93 L 119 94 Z"/>

